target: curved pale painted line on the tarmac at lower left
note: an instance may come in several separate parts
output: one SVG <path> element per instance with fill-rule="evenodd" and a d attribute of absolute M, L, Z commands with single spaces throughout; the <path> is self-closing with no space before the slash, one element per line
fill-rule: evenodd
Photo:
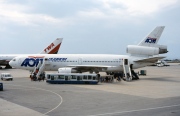
<path fill-rule="evenodd" d="M 11 85 L 11 86 L 19 86 L 19 87 L 27 87 L 27 86 L 22 86 L 22 85 L 12 85 L 12 84 L 7 84 L 7 85 Z M 51 93 L 57 95 L 57 96 L 60 98 L 60 101 L 61 101 L 61 102 L 60 102 L 56 107 L 54 107 L 53 109 L 51 109 L 50 111 L 48 111 L 48 112 L 46 112 L 46 113 L 44 113 L 44 114 L 42 114 L 42 115 L 46 115 L 46 114 L 52 112 L 53 110 L 57 109 L 57 108 L 62 104 L 62 102 L 63 102 L 63 98 L 61 97 L 61 95 L 59 95 L 59 94 L 56 93 L 56 92 L 53 92 L 53 91 L 50 91 L 50 90 L 46 90 L 46 89 L 42 89 L 42 88 L 37 88 L 37 87 L 27 87 L 27 88 L 51 92 Z"/>

